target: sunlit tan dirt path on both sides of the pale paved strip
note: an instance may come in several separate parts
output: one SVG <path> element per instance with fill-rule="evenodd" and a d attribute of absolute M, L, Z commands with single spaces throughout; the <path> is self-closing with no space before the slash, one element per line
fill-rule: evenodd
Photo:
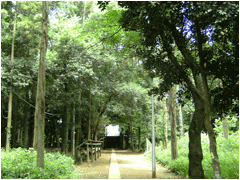
<path fill-rule="evenodd" d="M 152 160 L 144 153 L 115 150 L 121 179 L 152 179 Z M 108 179 L 112 150 L 103 150 L 97 161 L 77 165 L 81 179 Z M 183 179 L 156 162 L 157 179 Z"/>

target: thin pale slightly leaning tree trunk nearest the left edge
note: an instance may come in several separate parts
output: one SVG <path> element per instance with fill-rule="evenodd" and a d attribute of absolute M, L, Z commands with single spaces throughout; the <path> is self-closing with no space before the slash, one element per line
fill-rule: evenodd
<path fill-rule="evenodd" d="M 17 3 L 16 3 L 17 6 Z M 11 52 L 11 76 L 13 73 L 13 61 L 14 61 L 14 43 L 15 43 L 15 32 L 16 32 L 16 19 L 17 19 L 17 9 L 15 6 L 14 15 L 14 25 L 13 25 L 13 39 L 12 39 L 12 52 Z M 12 122 L 12 77 L 9 92 L 9 102 L 8 102 L 8 120 L 7 120 L 7 138 L 6 138 L 6 151 L 10 149 L 10 139 L 11 139 L 11 122 Z"/>

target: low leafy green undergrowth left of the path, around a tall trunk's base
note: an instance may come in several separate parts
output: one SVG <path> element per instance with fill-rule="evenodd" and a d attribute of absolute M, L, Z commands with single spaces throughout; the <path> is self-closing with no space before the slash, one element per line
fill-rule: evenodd
<path fill-rule="evenodd" d="M 70 178 L 74 168 L 71 157 L 59 152 L 44 153 L 44 169 L 37 166 L 37 152 L 23 148 L 1 151 L 2 179 L 57 179 Z"/>

